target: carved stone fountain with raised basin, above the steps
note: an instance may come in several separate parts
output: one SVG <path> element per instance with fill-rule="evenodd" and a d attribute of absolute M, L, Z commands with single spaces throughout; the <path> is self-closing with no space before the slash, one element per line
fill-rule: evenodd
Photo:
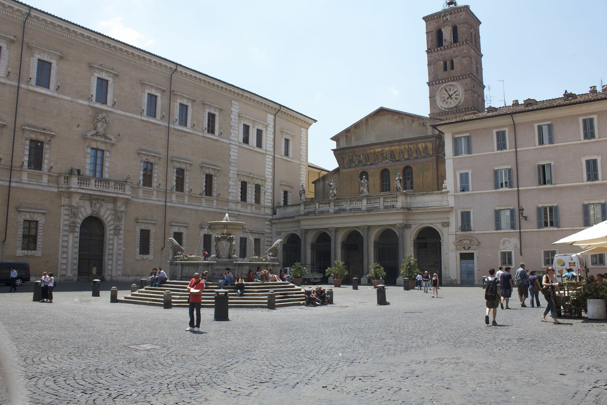
<path fill-rule="evenodd" d="M 185 247 L 173 238 L 169 238 L 171 244 L 169 279 L 189 280 L 194 273 L 207 271 L 209 282 L 217 282 L 226 267 L 232 270 L 234 279 L 239 274 L 246 277 L 249 269 L 255 271 L 259 266 L 266 270 L 273 269 L 274 274 L 279 272 L 278 253 L 282 245 L 282 239 L 274 242 L 270 249 L 266 250 L 265 256 L 253 256 L 248 258 L 247 261 L 247 258 L 239 258 L 236 252 L 236 235 L 246 231 L 245 223 L 231 221 L 226 213 L 223 221 L 209 221 L 208 225 L 208 229 L 214 235 L 212 252 L 209 252 L 208 260 L 203 260 L 200 256 L 186 255 Z"/>

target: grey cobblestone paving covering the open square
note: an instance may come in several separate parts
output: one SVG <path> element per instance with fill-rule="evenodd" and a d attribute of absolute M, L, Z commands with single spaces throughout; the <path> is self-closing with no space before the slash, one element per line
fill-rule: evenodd
<path fill-rule="evenodd" d="M 388 287 L 388 306 L 367 286 L 334 291 L 335 305 L 234 309 L 230 322 L 203 310 L 204 333 L 183 330 L 185 308 L 110 304 L 108 291 L 59 289 L 52 304 L 2 293 L 0 403 L 591 404 L 607 396 L 605 322 L 553 325 L 540 322 L 543 308 L 513 305 L 487 327 L 481 288 L 446 287 L 432 299 Z"/>

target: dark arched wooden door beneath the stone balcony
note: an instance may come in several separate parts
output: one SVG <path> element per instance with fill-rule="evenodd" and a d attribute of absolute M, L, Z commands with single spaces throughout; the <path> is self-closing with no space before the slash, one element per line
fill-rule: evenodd
<path fill-rule="evenodd" d="M 89 281 L 103 277 L 104 226 L 95 216 L 88 216 L 80 224 L 78 244 L 78 281 Z M 95 266 L 97 272 L 92 273 Z"/>

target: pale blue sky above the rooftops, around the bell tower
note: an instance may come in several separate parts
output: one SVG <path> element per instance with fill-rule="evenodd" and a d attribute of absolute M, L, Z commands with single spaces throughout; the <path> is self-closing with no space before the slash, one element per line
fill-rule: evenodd
<path fill-rule="evenodd" d="M 443 1 L 26 2 L 313 117 L 309 161 L 328 169 L 330 137 L 379 106 L 428 114 L 422 16 Z M 459 4 L 483 22 L 492 105 L 498 80 L 508 104 L 607 83 L 605 0 Z"/>

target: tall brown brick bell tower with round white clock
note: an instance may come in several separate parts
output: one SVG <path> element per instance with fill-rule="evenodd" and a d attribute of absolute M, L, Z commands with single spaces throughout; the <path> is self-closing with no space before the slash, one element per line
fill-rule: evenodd
<path fill-rule="evenodd" d="M 443 10 L 424 17 L 428 49 L 430 114 L 454 119 L 484 111 L 481 21 L 467 5 L 446 1 Z"/>

